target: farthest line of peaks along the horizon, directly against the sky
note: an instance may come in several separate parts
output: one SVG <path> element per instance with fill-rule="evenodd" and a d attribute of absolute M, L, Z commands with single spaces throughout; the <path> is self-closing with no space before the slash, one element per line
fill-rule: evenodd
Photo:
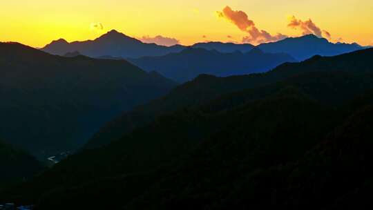
<path fill-rule="evenodd" d="M 192 48 L 204 48 L 217 50 L 220 53 L 248 53 L 254 46 L 251 44 L 232 44 L 221 42 L 198 43 Z M 327 39 L 318 38 L 314 35 L 287 38 L 281 41 L 260 44 L 257 46 L 265 53 L 287 53 L 295 59 L 302 61 L 314 55 L 332 56 L 350 53 L 354 50 L 363 49 L 358 44 L 332 44 Z M 88 57 L 122 57 L 140 58 L 167 55 L 169 53 L 180 53 L 188 46 L 175 45 L 171 47 L 156 44 L 144 44 L 142 41 L 128 37 L 121 32 L 111 30 L 95 40 L 73 41 L 68 43 L 64 39 L 52 41 L 41 50 L 52 55 L 65 55 L 66 53 L 79 52 Z"/>

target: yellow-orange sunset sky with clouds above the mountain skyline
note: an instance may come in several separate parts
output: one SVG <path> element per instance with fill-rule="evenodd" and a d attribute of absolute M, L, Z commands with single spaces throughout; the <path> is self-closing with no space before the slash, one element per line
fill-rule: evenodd
<path fill-rule="evenodd" d="M 34 47 L 95 39 L 112 29 L 165 45 L 258 44 L 315 32 L 333 42 L 373 45 L 372 0 L 0 1 L 0 41 Z"/>

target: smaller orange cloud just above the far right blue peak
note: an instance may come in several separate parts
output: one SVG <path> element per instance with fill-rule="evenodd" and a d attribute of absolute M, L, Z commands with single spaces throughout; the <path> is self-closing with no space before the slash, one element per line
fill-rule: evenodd
<path fill-rule="evenodd" d="M 312 21 L 312 19 L 308 19 L 307 21 L 302 21 L 300 19 L 296 19 L 295 16 L 290 17 L 289 24 L 287 26 L 289 28 L 293 28 L 295 30 L 301 30 L 303 35 L 316 35 L 318 37 L 326 37 L 330 39 L 332 35 L 326 30 L 321 30 L 316 24 Z"/>

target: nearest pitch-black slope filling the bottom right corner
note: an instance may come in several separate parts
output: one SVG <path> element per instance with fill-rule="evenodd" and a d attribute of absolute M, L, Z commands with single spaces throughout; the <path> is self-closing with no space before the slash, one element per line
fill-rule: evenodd
<path fill-rule="evenodd" d="M 371 104 L 372 97 L 370 104 L 347 117 L 297 161 L 251 175 L 247 178 L 249 182 L 245 183 L 252 186 L 251 189 L 238 187 L 232 193 L 240 195 L 245 192 L 249 196 L 236 197 L 233 207 L 372 208 Z M 272 199 L 266 200 L 266 196 Z"/>

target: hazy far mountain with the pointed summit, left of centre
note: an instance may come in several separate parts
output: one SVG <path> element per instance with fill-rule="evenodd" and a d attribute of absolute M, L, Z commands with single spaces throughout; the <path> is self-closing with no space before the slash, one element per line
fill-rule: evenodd
<path fill-rule="evenodd" d="M 144 44 L 142 41 L 128 37 L 116 30 L 111 30 L 95 40 L 68 43 L 64 39 L 59 39 L 41 48 L 44 52 L 52 55 L 65 55 L 66 53 L 78 51 L 88 57 L 111 56 L 123 58 L 160 56 L 180 52 L 182 49 L 184 49 L 184 46 L 180 45 L 166 47 L 156 44 Z"/>

